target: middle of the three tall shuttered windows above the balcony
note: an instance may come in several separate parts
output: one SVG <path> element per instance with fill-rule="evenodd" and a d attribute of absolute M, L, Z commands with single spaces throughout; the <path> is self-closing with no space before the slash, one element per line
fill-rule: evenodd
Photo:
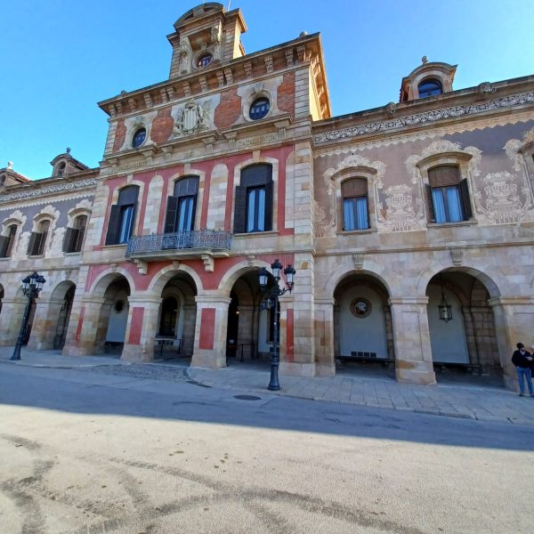
<path fill-rule="evenodd" d="M 197 196 L 198 176 L 187 176 L 174 183 L 173 196 L 167 198 L 165 233 L 194 229 Z"/>

